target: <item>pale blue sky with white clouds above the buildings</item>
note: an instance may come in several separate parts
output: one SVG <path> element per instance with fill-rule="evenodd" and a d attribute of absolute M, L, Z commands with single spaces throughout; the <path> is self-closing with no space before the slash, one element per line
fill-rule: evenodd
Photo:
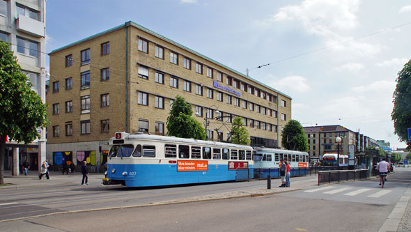
<path fill-rule="evenodd" d="M 411 59 L 409 0 L 47 0 L 46 12 L 47 52 L 132 21 L 248 69 L 293 98 L 303 126 L 338 124 L 405 148 L 391 111 Z"/>

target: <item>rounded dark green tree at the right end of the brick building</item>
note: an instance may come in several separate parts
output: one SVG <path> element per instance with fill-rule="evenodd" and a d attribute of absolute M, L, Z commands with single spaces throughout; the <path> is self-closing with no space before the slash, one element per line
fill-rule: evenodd
<path fill-rule="evenodd" d="M 305 137 L 304 128 L 299 121 L 291 119 L 284 127 L 281 134 L 281 144 L 288 150 L 309 150 L 307 137 Z"/>

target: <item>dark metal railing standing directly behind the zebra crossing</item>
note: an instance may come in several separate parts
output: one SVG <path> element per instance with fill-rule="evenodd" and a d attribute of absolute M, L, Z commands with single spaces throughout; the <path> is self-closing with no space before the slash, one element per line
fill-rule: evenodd
<path fill-rule="evenodd" d="M 368 178 L 370 175 L 369 169 L 356 170 L 333 170 L 333 171 L 319 171 L 318 185 L 322 183 L 341 182 L 348 180 L 359 180 Z"/>

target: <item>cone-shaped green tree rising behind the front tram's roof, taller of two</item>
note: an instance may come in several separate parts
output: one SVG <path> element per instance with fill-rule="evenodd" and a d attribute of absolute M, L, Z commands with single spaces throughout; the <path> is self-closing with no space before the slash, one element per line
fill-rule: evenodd
<path fill-rule="evenodd" d="M 192 105 L 177 96 L 167 117 L 167 135 L 180 138 L 206 139 L 206 131 L 192 116 Z"/>

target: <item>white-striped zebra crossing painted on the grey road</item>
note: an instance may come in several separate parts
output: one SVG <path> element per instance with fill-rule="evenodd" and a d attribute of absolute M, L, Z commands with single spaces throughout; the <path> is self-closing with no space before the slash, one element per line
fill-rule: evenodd
<path fill-rule="evenodd" d="M 371 191 L 373 190 L 373 191 Z M 362 188 L 355 188 L 355 187 L 334 187 L 334 186 L 325 186 L 319 187 L 313 190 L 305 190 L 304 192 L 307 193 L 322 193 L 322 194 L 343 194 L 344 196 L 357 196 L 359 194 L 366 194 L 366 197 L 371 198 L 379 198 L 381 196 L 385 196 L 392 192 L 392 190 L 376 190 L 375 188 L 369 187 L 362 187 Z"/>

